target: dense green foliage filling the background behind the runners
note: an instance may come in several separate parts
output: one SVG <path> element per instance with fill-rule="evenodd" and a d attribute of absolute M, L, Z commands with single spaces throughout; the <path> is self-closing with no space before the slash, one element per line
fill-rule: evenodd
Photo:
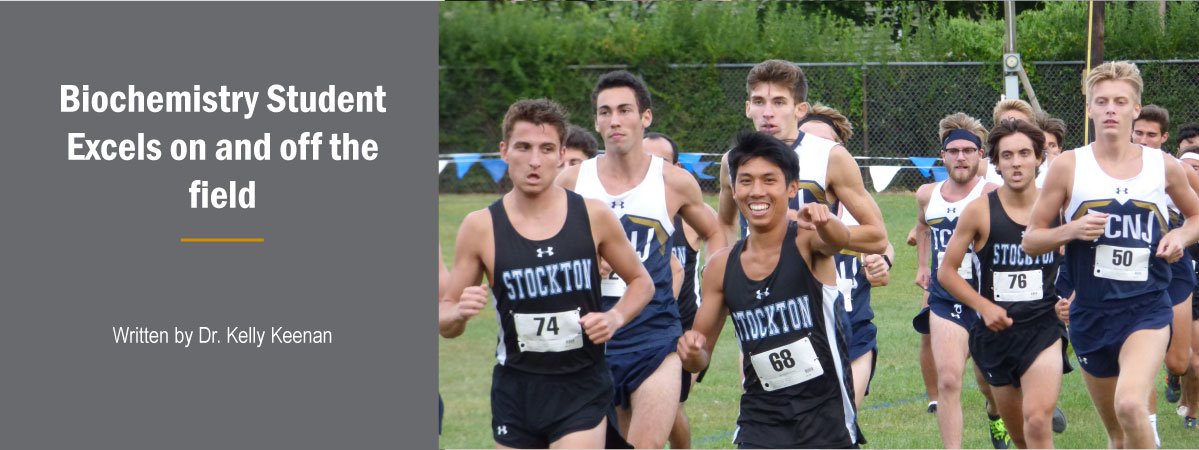
<path fill-rule="evenodd" d="M 1199 59 L 1199 5 L 1169 2 L 1164 29 L 1157 8 L 1109 2 L 1105 59 Z M 1086 4 L 1019 10 L 1017 46 L 1030 82 L 1042 107 L 1070 126 L 1067 148 L 1081 145 L 1084 66 L 1036 61 L 1085 58 Z M 806 64 L 808 100 L 850 118 L 848 148 L 863 156 L 935 156 L 941 116 L 960 110 L 989 125 L 1002 92 L 996 2 L 445 2 L 439 14 L 439 152 L 498 151 L 504 113 L 519 98 L 553 98 L 590 130 L 591 85 L 617 67 L 649 84 L 651 128 L 692 152 L 723 151 L 749 126 L 745 76 L 766 59 Z M 1199 118 L 1191 101 L 1199 98 L 1199 65 L 1140 67 L 1144 102 L 1168 108 L 1171 128 Z M 482 168 L 463 180 L 452 172 L 441 176 L 442 192 L 496 187 Z"/>

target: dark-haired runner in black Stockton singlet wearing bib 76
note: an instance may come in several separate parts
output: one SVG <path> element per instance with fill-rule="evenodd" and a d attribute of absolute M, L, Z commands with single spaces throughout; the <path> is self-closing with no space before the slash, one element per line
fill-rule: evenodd
<path fill-rule="evenodd" d="M 970 354 L 990 384 L 1012 442 L 1020 449 L 1053 448 L 1053 415 L 1066 360 L 1066 325 L 1058 320 L 1056 252 L 1032 258 L 1020 239 L 1037 199 L 1034 179 L 1044 160 L 1044 133 L 1006 120 L 987 137 L 1004 185 L 966 205 L 936 278 L 977 311 Z M 970 248 L 980 262 L 975 290 L 956 268 Z"/>

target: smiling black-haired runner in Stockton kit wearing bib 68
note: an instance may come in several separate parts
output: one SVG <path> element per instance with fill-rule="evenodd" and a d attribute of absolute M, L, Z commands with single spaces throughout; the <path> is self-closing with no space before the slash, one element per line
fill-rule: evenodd
<path fill-rule="evenodd" d="M 679 341 L 685 367 L 711 361 L 725 318 L 743 353 L 743 389 L 733 442 L 742 449 L 857 448 L 852 380 L 838 325 L 833 256 L 849 229 L 818 203 L 788 218 L 799 191 L 797 157 L 760 132 L 739 136 L 728 154 L 735 199 L 751 233 L 711 258 L 695 329 Z"/>

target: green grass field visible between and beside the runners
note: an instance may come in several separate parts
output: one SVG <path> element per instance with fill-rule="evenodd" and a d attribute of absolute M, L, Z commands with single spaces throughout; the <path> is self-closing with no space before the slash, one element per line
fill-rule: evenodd
<path fill-rule="evenodd" d="M 458 224 L 470 211 L 486 208 L 496 194 L 442 194 L 439 198 L 438 234 L 446 264 L 452 266 L 453 242 Z M 924 412 L 928 402 L 920 377 L 920 335 L 911 318 L 920 308 L 921 290 L 912 284 L 916 275 L 916 250 L 904 245 L 915 221 L 916 200 L 910 194 L 879 194 L 887 235 L 896 247 L 896 265 L 891 286 L 872 293 L 874 324 L 879 328 L 879 360 L 870 394 L 860 409 L 860 424 L 870 449 L 940 448 L 936 418 Z M 715 197 L 707 202 L 716 205 Z M 439 341 L 438 389 L 445 400 L 446 414 L 440 446 L 445 449 L 493 448 L 490 434 L 492 367 L 495 365 L 495 310 L 486 308 L 472 319 L 466 332 L 454 340 Z M 685 409 L 691 419 L 692 445 L 697 449 L 733 448 L 740 386 L 736 368 L 736 344 L 733 326 L 725 326 L 717 343 L 704 383 L 692 390 Z M 1077 361 L 1074 361 L 1077 366 Z M 983 397 L 975 385 L 968 365 L 963 386 L 965 430 L 963 446 L 989 449 Z M 1182 428 L 1174 413 L 1175 403 L 1165 401 L 1158 380 L 1158 431 L 1163 449 L 1199 446 L 1199 432 Z M 1070 427 L 1055 434 L 1058 448 L 1099 449 L 1107 436 L 1083 385 L 1080 370 L 1066 374 L 1059 406 L 1066 412 Z"/>

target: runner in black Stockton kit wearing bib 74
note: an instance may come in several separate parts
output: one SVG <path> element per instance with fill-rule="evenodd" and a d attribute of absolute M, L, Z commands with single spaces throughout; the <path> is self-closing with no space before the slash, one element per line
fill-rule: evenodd
<path fill-rule="evenodd" d="M 500 157 L 512 191 L 463 220 L 440 302 L 440 332 L 457 337 L 487 304 L 483 275 L 495 294 L 498 448 L 603 448 L 613 391 L 603 344 L 653 292 L 607 205 L 553 184 L 565 134 L 566 110 L 558 103 L 523 100 L 508 108 Z M 628 283 L 607 311 L 597 257 Z"/>

